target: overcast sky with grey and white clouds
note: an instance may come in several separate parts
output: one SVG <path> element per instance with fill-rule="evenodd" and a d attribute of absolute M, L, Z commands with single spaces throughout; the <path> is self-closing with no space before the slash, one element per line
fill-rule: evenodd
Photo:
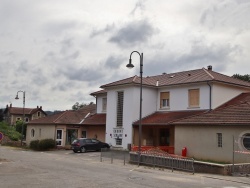
<path fill-rule="evenodd" d="M 100 86 L 213 66 L 250 70 L 249 0 L 1 0 L 0 108 L 43 110 L 95 102 Z"/>

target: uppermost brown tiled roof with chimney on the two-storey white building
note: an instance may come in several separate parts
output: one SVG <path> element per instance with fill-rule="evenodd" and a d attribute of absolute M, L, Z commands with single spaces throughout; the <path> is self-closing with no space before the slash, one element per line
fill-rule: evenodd
<path fill-rule="evenodd" d="M 170 74 L 162 74 L 157 76 L 143 77 L 142 84 L 145 86 L 162 87 L 162 86 L 172 86 L 172 85 L 207 82 L 207 81 L 223 82 L 238 86 L 250 87 L 250 82 L 242 81 L 230 76 L 214 72 L 212 70 L 207 70 L 205 68 L 170 73 Z M 140 84 L 140 77 L 134 76 L 126 78 L 106 85 L 102 85 L 101 88 L 108 88 L 126 84 Z"/>

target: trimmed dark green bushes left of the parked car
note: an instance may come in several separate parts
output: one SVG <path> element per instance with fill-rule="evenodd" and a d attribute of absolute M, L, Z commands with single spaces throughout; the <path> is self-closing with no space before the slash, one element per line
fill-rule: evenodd
<path fill-rule="evenodd" d="M 53 139 L 33 140 L 30 142 L 30 148 L 36 151 L 45 151 L 55 147 L 56 142 Z"/>

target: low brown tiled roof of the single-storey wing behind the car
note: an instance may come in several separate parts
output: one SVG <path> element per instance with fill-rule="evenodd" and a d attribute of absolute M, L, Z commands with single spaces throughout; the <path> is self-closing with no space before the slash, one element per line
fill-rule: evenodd
<path fill-rule="evenodd" d="M 29 124 L 80 124 L 87 115 L 95 113 L 96 105 L 88 105 L 79 110 L 67 110 L 51 116 L 35 119 Z"/>

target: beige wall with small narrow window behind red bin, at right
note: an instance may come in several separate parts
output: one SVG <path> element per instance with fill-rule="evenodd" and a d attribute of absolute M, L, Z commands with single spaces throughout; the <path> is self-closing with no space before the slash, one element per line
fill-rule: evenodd
<path fill-rule="evenodd" d="M 250 128 L 242 126 L 175 126 L 175 153 L 181 155 L 182 148 L 187 147 L 187 155 L 195 159 L 232 163 L 233 146 L 240 150 L 243 133 L 250 133 Z M 222 133 L 222 147 L 218 147 L 217 133 Z M 233 141 L 233 136 L 236 142 Z M 235 153 L 235 162 L 249 162 L 250 155 Z"/>

